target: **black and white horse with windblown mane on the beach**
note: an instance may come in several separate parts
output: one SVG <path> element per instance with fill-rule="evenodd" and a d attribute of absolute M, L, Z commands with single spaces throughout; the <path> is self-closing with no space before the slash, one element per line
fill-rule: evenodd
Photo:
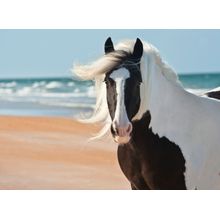
<path fill-rule="evenodd" d="M 105 54 L 73 72 L 95 80 L 96 107 L 118 144 L 118 162 L 131 188 L 220 189 L 220 101 L 187 92 L 150 43 L 111 38 Z M 205 97 L 206 96 L 206 97 Z"/>

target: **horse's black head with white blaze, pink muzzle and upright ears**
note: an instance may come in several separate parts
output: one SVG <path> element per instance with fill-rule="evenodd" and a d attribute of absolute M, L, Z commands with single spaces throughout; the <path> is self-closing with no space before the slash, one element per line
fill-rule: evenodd
<path fill-rule="evenodd" d="M 105 74 L 107 104 L 111 116 L 111 133 L 119 144 L 129 142 L 132 134 L 132 119 L 140 107 L 140 84 L 142 82 L 140 60 L 143 44 L 137 38 L 133 52 L 114 49 L 111 38 L 105 42 L 105 54 L 125 53 L 121 62 Z"/>

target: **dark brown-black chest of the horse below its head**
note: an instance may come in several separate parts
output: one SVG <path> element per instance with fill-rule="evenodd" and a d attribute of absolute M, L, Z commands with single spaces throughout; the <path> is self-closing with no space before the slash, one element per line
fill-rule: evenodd
<path fill-rule="evenodd" d="M 123 173 L 137 189 L 186 189 L 182 152 L 147 129 L 149 117 L 134 122 L 131 142 L 118 148 Z"/>

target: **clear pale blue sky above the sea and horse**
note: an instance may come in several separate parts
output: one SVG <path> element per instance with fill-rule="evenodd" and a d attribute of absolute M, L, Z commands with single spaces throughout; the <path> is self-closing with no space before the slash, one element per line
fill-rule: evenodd
<path fill-rule="evenodd" d="M 74 62 L 103 55 L 104 42 L 136 39 L 156 46 L 180 73 L 220 72 L 220 30 L 0 30 L 0 78 L 67 77 Z"/>

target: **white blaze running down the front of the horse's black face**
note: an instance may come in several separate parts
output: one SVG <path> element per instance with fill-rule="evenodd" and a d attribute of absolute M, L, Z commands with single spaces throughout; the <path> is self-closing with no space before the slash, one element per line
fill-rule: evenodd
<path fill-rule="evenodd" d="M 117 123 L 117 125 L 124 127 L 129 122 L 126 108 L 125 108 L 125 101 L 124 101 L 124 90 L 125 90 L 125 81 L 130 77 L 130 73 L 125 68 L 120 68 L 114 71 L 110 78 L 112 78 L 116 83 L 116 93 L 117 93 L 117 104 L 115 110 L 115 117 L 113 121 Z"/>

